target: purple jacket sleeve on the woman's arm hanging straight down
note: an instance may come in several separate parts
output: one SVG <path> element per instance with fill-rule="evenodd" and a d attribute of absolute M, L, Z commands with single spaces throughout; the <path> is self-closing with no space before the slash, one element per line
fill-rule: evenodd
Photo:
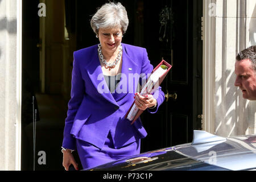
<path fill-rule="evenodd" d="M 81 105 L 82 99 L 85 93 L 84 80 L 81 76 L 79 63 L 76 60 L 74 52 L 72 80 L 71 80 L 71 99 L 68 102 L 67 118 L 65 119 L 64 136 L 63 136 L 63 147 L 71 150 L 76 150 L 75 138 L 71 134 L 73 121 L 75 119 L 77 110 Z"/>

